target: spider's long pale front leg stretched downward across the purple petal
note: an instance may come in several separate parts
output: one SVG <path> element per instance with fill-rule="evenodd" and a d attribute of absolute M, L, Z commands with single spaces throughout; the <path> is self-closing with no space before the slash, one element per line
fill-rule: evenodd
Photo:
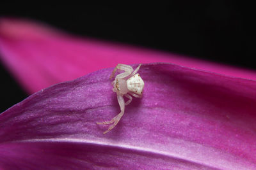
<path fill-rule="evenodd" d="M 113 117 L 110 121 L 107 122 L 97 122 L 98 125 L 109 125 L 109 124 L 113 124 L 110 125 L 108 130 L 103 132 L 103 134 L 108 133 L 109 131 L 111 131 L 111 129 L 113 129 L 119 122 L 120 118 L 122 118 L 122 116 L 124 115 L 124 107 L 125 107 L 125 103 L 124 103 L 124 97 L 123 96 L 117 96 L 117 100 L 121 109 L 121 112 L 116 115 L 115 117 Z"/>

